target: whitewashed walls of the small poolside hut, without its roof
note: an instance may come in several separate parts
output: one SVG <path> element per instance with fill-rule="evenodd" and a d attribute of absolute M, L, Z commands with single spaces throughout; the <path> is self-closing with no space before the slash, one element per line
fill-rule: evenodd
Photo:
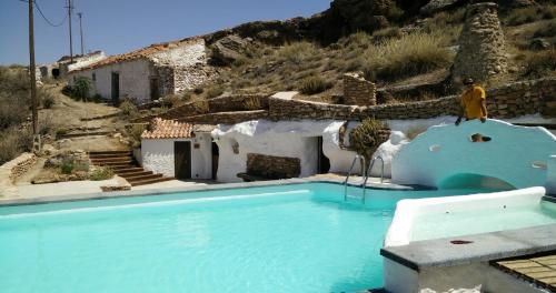
<path fill-rule="evenodd" d="M 197 134 L 195 139 L 141 140 L 142 166 L 157 174 L 175 176 L 176 141 L 191 141 L 191 179 L 211 179 L 212 149 L 208 133 Z M 199 149 L 195 149 L 195 143 L 199 143 Z"/>

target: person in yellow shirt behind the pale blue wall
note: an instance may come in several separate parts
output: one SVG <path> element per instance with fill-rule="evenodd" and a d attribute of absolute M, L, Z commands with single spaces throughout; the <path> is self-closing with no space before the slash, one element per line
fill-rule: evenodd
<path fill-rule="evenodd" d="M 486 110 L 486 94 L 485 89 L 476 85 L 473 79 L 464 81 L 466 90 L 461 94 L 461 112 L 456 121 L 456 125 L 461 123 L 461 118 L 465 120 L 480 119 L 485 123 L 488 112 Z"/>

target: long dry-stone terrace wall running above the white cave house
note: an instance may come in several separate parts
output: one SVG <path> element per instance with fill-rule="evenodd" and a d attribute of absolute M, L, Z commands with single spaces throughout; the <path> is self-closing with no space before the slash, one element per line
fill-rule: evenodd
<path fill-rule="evenodd" d="M 268 102 L 268 111 L 241 111 L 242 103 L 239 97 L 209 100 L 211 113 L 200 113 L 190 104 L 186 104 L 172 109 L 163 118 L 209 124 L 234 124 L 256 119 L 269 119 L 271 121 L 301 119 L 363 120 L 364 118 L 374 117 L 384 120 L 403 120 L 457 115 L 460 107 L 460 95 L 371 107 L 328 104 L 271 97 L 268 100 L 264 99 Z M 535 113 L 556 117 L 556 78 L 522 81 L 488 89 L 487 109 L 490 118 L 505 119 Z M 227 111 L 225 112 L 225 110 Z"/>

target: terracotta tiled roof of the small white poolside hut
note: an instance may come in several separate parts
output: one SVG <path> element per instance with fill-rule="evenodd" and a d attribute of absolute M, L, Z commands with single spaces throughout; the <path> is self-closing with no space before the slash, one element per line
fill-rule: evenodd
<path fill-rule="evenodd" d="M 192 124 L 161 118 L 152 120 L 151 129 L 143 131 L 141 139 L 189 139 L 195 137 Z"/>

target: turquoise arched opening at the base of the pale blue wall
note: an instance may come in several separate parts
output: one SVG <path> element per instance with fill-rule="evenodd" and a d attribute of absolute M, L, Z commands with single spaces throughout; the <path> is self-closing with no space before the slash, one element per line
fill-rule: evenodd
<path fill-rule="evenodd" d="M 490 189 L 490 190 L 514 190 L 510 183 L 480 174 L 459 173 L 440 181 L 439 189 Z"/>

